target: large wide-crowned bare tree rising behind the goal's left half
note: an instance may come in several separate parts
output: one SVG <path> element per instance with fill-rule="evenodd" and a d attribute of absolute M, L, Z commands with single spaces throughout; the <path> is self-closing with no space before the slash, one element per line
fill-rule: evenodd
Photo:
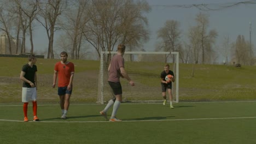
<path fill-rule="evenodd" d="M 147 2 L 95 0 L 90 3 L 90 21 L 86 24 L 83 34 L 99 57 L 101 51 L 113 51 L 119 43 L 129 45 L 131 50 L 142 40 L 147 40 L 147 17 L 143 15 L 150 10 Z M 109 60 L 110 55 L 107 62 Z"/>

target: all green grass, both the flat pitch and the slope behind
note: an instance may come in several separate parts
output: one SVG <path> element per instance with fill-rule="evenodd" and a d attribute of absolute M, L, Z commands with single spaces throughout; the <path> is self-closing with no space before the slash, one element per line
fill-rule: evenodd
<path fill-rule="evenodd" d="M 123 103 L 117 115 L 123 122 L 113 123 L 99 115 L 105 105 L 95 104 L 98 61 L 71 60 L 71 106 L 68 119 L 60 119 L 57 89 L 51 87 L 57 61 L 38 58 L 40 122 L 23 122 L 19 74 L 27 58 L 0 57 L 0 143 L 256 143 L 255 66 L 198 64 L 191 77 L 192 65 L 179 64 L 182 103 L 174 104 L 174 109 L 161 103 Z M 159 76 L 164 63 L 126 65 L 136 85 L 122 83 L 125 99 L 162 100 Z M 31 120 L 31 103 L 28 116 Z"/>

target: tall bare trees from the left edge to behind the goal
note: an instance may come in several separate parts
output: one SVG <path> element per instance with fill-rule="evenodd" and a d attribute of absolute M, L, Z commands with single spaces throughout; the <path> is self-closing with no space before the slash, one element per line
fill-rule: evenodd
<path fill-rule="evenodd" d="M 0 6 L 0 29 L 8 39 L 21 38 L 21 53 L 26 52 L 26 36 L 29 35 L 30 52 L 33 53 L 35 23 L 43 26 L 48 37 L 47 58 L 54 58 L 54 37 L 64 32 L 62 49 L 79 59 L 85 44 L 94 47 L 98 56 L 101 51 L 113 51 L 123 43 L 135 50 L 148 40 L 148 20 L 144 13 L 150 7 L 145 1 L 131 0 L 3 0 Z M 16 44 L 17 50 L 19 42 Z M 10 53 L 18 53 L 11 51 Z M 83 48 L 83 50 L 82 50 Z"/>

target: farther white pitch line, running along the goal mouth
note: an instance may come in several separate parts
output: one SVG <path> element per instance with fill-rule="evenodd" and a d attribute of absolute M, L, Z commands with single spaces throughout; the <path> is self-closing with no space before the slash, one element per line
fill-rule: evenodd
<path fill-rule="evenodd" d="M 175 101 L 173 101 L 175 103 Z M 177 103 L 177 104 L 200 104 L 200 103 L 256 103 L 255 100 L 251 101 L 198 101 L 198 102 L 182 102 L 182 103 Z M 133 102 L 133 103 L 122 103 L 122 105 L 153 105 L 153 104 L 162 104 L 162 101 L 159 103 L 152 103 L 151 101 L 149 102 Z M 0 106 L 22 106 L 23 103 L 20 105 L 0 105 Z M 60 104 L 38 104 L 38 106 L 55 106 L 55 105 L 60 105 Z M 102 105 L 102 104 L 70 104 L 70 105 Z M 106 105 L 106 104 L 104 104 Z"/>

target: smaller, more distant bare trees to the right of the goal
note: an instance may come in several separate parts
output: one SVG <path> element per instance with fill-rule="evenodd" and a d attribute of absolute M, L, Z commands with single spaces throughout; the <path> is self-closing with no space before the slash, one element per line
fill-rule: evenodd
<path fill-rule="evenodd" d="M 189 41 L 181 40 L 182 29 L 179 21 L 167 20 L 158 30 L 161 41 L 156 46 L 156 51 L 178 51 L 182 63 L 211 64 L 219 57 L 219 52 L 225 58 L 224 64 L 254 64 L 253 45 L 243 35 L 237 35 L 234 42 L 230 41 L 229 35 L 225 35 L 222 45 L 215 45 L 219 35 L 216 29 L 209 29 L 209 17 L 201 12 L 195 16 L 196 25 L 191 26 L 187 32 Z M 174 57 L 172 61 L 174 62 Z"/>

